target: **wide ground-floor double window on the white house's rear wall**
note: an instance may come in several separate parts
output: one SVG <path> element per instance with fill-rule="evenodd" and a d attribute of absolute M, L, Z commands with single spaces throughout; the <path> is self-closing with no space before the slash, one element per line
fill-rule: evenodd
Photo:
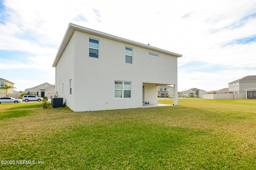
<path fill-rule="evenodd" d="M 131 82 L 115 81 L 115 98 L 131 98 Z"/>

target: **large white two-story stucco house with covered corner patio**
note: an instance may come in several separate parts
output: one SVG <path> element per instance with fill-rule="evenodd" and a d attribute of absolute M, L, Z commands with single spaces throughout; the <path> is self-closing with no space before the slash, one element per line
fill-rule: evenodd
<path fill-rule="evenodd" d="M 178 57 L 70 23 L 52 65 L 55 91 L 73 111 L 95 111 L 157 104 L 158 86 L 171 84 L 177 105 Z"/>

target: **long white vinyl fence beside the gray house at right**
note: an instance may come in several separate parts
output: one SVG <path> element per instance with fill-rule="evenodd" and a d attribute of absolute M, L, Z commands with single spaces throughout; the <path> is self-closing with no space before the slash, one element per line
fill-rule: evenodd
<path fill-rule="evenodd" d="M 204 94 L 204 99 L 245 99 L 246 95 L 245 93 L 239 93 L 239 94 Z"/>

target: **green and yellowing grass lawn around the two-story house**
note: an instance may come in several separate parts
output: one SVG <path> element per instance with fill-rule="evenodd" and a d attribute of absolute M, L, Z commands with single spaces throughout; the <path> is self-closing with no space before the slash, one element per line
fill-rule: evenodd
<path fill-rule="evenodd" d="M 256 100 L 178 102 L 92 112 L 0 104 L 0 169 L 256 169 Z"/>

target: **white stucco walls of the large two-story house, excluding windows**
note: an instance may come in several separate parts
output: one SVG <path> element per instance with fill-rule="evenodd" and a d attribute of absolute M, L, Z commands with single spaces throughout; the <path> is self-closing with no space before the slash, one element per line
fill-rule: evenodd
<path fill-rule="evenodd" d="M 99 39 L 99 58 L 88 57 L 89 38 Z M 133 48 L 132 64 L 125 47 Z M 114 97 L 115 81 L 132 83 L 131 98 Z M 145 101 L 157 103 L 157 86 L 169 84 L 177 84 L 177 57 L 76 30 L 56 65 L 56 92 L 74 111 L 142 107 L 143 85 Z"/>

